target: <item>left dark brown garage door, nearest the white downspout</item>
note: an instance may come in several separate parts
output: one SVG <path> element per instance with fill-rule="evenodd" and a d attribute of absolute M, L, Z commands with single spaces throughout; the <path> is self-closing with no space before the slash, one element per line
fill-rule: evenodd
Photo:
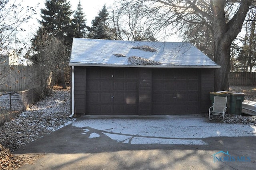
<path fill-rule="evenodd" d="M 86 69 L 86 114 L 137 114 L 137 93 L 138 71 L 136 69 Z"/>

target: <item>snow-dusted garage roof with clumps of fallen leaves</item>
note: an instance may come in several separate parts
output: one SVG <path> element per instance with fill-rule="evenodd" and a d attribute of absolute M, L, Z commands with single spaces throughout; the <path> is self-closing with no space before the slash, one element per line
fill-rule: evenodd
<path fill-rule="evenodd" d="M 188 42 L 139 42 L 87 38 L 73 39 L 69 65 L 220 68 Z"/>

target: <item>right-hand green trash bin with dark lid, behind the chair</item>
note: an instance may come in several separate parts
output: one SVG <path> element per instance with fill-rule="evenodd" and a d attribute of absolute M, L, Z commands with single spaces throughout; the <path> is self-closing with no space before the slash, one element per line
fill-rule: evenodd
<path fill-rule="evenodd" d="M 244 93 L 230 92 L 230 112 L 231 114 L 242 114 L 242 102 L 244 101 Z"/>

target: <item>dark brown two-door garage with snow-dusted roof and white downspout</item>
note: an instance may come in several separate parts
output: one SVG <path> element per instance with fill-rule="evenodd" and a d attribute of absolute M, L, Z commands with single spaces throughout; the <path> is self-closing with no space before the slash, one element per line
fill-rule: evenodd
<path fill-rule="evenodd" d="M 86 115 L 208 112 L 220 68 L 190 43 L 86 38 L 74 38 L 69 65 L 70 112 Z"/>

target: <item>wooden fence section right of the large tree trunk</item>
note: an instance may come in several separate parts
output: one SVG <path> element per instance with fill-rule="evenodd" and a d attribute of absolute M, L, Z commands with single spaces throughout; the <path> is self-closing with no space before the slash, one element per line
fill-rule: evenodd
<path fill-rule="evenodd" d="M 254 86 L 256 85 L 256 72 L 230 72 L 230 86 Z"/>

